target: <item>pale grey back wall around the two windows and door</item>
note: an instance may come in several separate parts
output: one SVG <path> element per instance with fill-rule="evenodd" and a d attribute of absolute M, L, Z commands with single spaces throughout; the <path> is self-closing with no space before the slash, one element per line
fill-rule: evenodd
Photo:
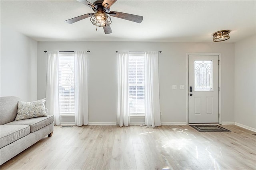
<path fill-rule="evenodd" d="M 45 98 L 46 51 L 87 51 L 89 122 L 116 122 L 117 54 L 115 51 L 162 51 L 159 54 L 162 123 L 186 124 L 186 53 L 220 53 L 222 121 L 234 122 L 234 43 L 38 42 L 38 99 Z M 186 88 L 185 88 L 186 89 Z M 132 121 L 136 121 L 134 118 Z M 137 122 L 141 122 L 139 119 Z"/>

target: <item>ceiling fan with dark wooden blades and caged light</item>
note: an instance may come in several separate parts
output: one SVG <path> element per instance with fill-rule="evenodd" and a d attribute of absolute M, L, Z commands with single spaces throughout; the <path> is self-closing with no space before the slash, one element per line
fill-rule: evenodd
<path fill-rule="evenodd" d="M 112 4 L 116 2 L 116 0 L 97 0 L 93 3 L 90 3 L 87 0 L 77 0 L 77 1 L 92 8 L 92 10 L 96 13 L 95 14 L 88 13 L 82 16 L 71 18 L 69 20 L 66 20 L 65 21 L 66 23 L 74 23 L 74 22 L 83 20 L 85 18 L 91 17 L 90 21 L 92 22 L 92 24 L 96 25 L 97 27 L 103 27 L 105 34 L 109 34 L 109 33 L 112 33 L 112 30 L 110 27 L 110 23 L 111 23 L 110 16 L 137 22 L 137 23 L 141 23 L 141 21 L 143 20 L 143 16 L 126 14 L 123 12 L 110 11 L 110 6 L 112 6 Z"/>

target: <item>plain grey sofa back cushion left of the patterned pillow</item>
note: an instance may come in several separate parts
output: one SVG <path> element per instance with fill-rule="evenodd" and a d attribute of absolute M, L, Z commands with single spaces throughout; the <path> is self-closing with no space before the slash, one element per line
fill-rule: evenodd
<path fill-rule="evenodd" d="M 19 100 L 21 99 L 14 96 L 0 98 L 0 125 L 14 121 Z"/>

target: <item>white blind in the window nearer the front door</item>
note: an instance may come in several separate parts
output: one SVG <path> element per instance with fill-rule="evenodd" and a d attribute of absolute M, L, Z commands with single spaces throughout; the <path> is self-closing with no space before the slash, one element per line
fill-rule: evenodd
<path fill-rule="evenodd" d="M 145 113 L 144 53 L 129 53 L 129 109 L 131 114 Z"/>

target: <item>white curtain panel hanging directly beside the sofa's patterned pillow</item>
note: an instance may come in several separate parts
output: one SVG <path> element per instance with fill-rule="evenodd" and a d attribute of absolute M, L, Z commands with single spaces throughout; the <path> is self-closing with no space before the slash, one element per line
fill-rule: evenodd
<path fill-rule="evenodd" d="M 46 74 L 46 107 L 48 113 L 54 115 L 54 124 L 60 125 L 59 113 L 59 86 L 58 86 L 58 64 L 59 54 L 57 51 L 47 52 L 47 74 Z"/>

